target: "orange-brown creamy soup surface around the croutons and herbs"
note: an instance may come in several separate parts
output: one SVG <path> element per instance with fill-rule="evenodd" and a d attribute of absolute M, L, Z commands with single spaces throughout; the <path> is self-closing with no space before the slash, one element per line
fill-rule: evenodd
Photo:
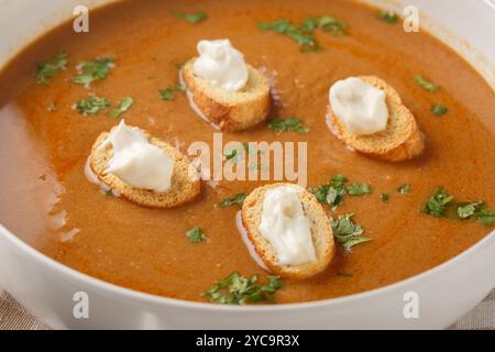
<path fill-rule="evenodd" d="M 205 11 L 189 23 L 174 12 Z M 316 31 L 319 53 L 301 53 L 287 36 L 258 30 L 257 23 L 331 14 L 348 23 L 348 35 Z M 334 0 L 311 1 L 128 1 L 90 13 L 90 32 L 75 34 L 64 24 L 19 54 L 0 75 L 0 221 L 23 241 L 54 260 L 103 280 L 151 294 L 204 301 L 204 293 L 232 272 L 264 272 L 250 256 L 237 227 L 239 206 L 215 205 L 266 184 L 202 184 L 195 201 L 176 209 L 148 209 L 108 197 L 85 176 L 96 138 L 119 120 L 107 111 L 84 117 L 73 109 L 88 94 L 116 106 L 125 96 L 134 105 L 123 116 L 130 125 L 178 145 L 212 144 L 208 123 L 183 94 L 164 101 L 158 89 L 175 86 L 177 67 L 196 55 L 200 40 L 230 38 L 248 63 L 272 77 L 279 100 L 271 117 L 299 117 L 308 134 L 275 134 L 266 125 L 223 133 L 229 141 L 305 141 L 308 186 L 337 173 L 365 182 L 373 193 L 345 197 L 332 217 L 355 213 L 372 242 L 344 251 L 338 245 L 329 267 L 305 280 L 284 280 L 276 302 L 309 301 L 377 288 L 425 272 L 466 250 L 493 229 L 474 220 L 435 218 L 420 211 L 438 186 L 459 200 L 483 199 L 495 206 L 495 111 L 491 87 L 449 47 L 430 35 L 405 33 L 402 24 L 376 16 L 376 9 Z M 37 85 L 35 63 L 61 48 L 66 70 Z M 116 67 L 90 89 L 68 81 L 76 64 L 109 56 Z M 432 94 L 413 79 L 428 77 Z M 376 75 L 400 94 L 426 135 L 425 155 L 413 162 L 383 163 L 348 150 L 327 129 L 329 87 L 348 76 Z M 449 108 L 437 117 L 435 105 Z M 56 109 L 51 109 L 56 107 Z M 410 185 L 400 195 L 397 187 Z M 381 194 L 389 194 L 388 202 Z M 208 235 L 190 243 L 186 231 Z"/>

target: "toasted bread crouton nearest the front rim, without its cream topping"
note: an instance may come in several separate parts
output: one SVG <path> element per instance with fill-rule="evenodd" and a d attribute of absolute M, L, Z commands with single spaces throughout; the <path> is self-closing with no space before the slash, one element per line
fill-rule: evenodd
<path fill-rule="evenodd" d="M 311 237 L 315 246 L 317 261 L 301 265 L 282 265 L 278 263 L 278 255 L 260 232 L 258 227 L 263 211 L 263 200 L 265 193 L 275 187 L 290 186 L 300 188 L 298 193 L 302 204 L 305 215 L 312 222 Z M 323 271 L 334 254 L 333 231 L 330 220 L 323 208 L 305 188 L 293 184 L 273 184 L 253 190 L 244 200 L 242 206 L 242 223 L 248 232 L 250 241 L 253 243 L 256 253 L 260 255 L 271 272 L 283 277 L 304 279 Z"/>

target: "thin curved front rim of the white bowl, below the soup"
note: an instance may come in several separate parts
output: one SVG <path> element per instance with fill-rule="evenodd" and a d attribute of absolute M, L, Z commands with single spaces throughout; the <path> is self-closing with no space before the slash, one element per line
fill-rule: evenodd
<path fill-rule="evenodd" d="M 3 224 L 0 223 L 0 238 L 3 237 L 7 241 L 10 242 L 11 245 L 18 248 L 21 252 L 29 255 L 31 260 L 43 264 L 46 268 L 58 272 L 61 275 L 68 276 L 73 282 L 81 282 L 82 284 L 92 286 L 95 288 L 105 290 L 112 295 L 123 296 L 129 299 L 134 299 L 136 301 L 143 301 L 147 304 L 157 304 L 157 305 L 170 305 L 179 308 L 188 308 L 197 311 L 228 311 L 228 312 L 243 312 L 243 314 L 256 314 L 256 312 L 276 312 L 276 311 L 297 311 L 305 309 L 318 309 L 322 307 L 332 307 L 345 304 L 352 304 L 356 300 L 362 300 L 366 298 L 376 298 L 377 296 L 386 295 L 387 293 L 394 292 L 396 289 L 400 289 L 407 285 L 414 285 L 420 280 L 425 280 L 428 278 L 432 278 L 436 275 L 440 275 L 460 264 L 468 261 L 470 257 L 476 254 L 476 252 L 487 243 L 495 241 L 495 230 L 492 230 L 486 234 L 483 239 L 477 241 L 468 250 L 461 252 L 460 254 L 451 257 L 450 260 L 419 274 L 407 277 L 396 283 L 392 283 L 382 287 L 377 287 L 371 290 L 365 290 L 358 294 L 336 297 L 336 298 L 327 298 L 320 300 L 312 301 L 304 301 L 304 302 L 292 302 L 292 304 L 274 304 L 274 305 L 260 305 L 260 306 L 230 306 L 230 305 L 218 305 L 215 302 L 201 302 L 201 301 L 193 301 L 185 300 L 178 298 L 170 298 L 165 296 L 158 296 L 154 294 L 148 294 L 140 290 L 135 290 L 132 288 L 127 288 L 123 286 L 119 286 L 103 279 L 90 276 L 82 272 L 79 272 L 75 268 L 72 268 L 65 264 L 62 264 L 50 256 L 43 254 L 36 249 L 32 248 L 20 238 L 14 235 L 11 231 L 9 231 Z"/>

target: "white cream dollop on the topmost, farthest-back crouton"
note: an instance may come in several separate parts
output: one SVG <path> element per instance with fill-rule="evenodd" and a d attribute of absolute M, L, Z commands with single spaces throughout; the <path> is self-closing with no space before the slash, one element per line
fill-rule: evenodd
<path fill-rule="evenodd" d="M 244 55 L 229 40 L 200 41 L 198 53 L 199 57 L 194 65 L 196 76 L 230 91 L 245 87 L 249 70 Z"/>

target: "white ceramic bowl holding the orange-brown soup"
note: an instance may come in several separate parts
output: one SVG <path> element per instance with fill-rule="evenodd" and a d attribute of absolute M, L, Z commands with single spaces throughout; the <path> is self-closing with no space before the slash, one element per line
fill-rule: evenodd
<path fill-rule="evenodd" d="M 0 0 L 0 63 L 56 23 L 75 4 L 109 1 Z M 372 1 L 400 10 L 397 1 Z M 488 0 L 409 0 L 421 24 L 464 55 L 493 87 L 495 7 Z M 448 30 L 446 30 L 448 29 Z M 380 289 L 338 299 L 262 307 L 223 307 L 121 288 L 64 266 L 0 226 L 0 286 L 59 329 L 430 329 L 446 328 L 495 287 L 495 232 L 451 261 Z M 73 315 L 74 294 L 89 297 L 89 319 Z M 419 297 L 406 319 L 404 296 Z"/>

